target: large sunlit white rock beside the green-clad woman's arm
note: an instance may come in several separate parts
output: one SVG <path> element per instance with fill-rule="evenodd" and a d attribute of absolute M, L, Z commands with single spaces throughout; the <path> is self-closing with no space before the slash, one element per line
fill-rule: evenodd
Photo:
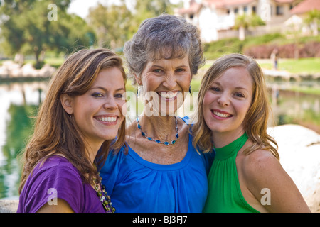
<path fill-rule="evenodd" d="M 309 128 L 269 128 L 279 145 L 280 163 L 297 185 L 312 212 L 320 212 L 320 135 Z"/>

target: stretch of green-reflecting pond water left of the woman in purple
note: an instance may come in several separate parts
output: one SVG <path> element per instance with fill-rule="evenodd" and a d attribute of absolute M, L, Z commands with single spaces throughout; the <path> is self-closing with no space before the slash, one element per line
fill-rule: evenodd
<path fill-rule="evenodd" d="M 0 199 L 17 199 L 21 166 L 16 159 L 32 134 L 46 82 L 0 84 Z"/>

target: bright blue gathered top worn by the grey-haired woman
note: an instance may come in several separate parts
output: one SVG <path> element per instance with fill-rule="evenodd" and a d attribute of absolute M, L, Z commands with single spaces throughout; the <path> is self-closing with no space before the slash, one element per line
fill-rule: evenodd
<path fill-rule="evenodd" d="M 188 151 L 181 162 L 156 164 L 142 159 L 130 147 L 124 155 L 122 148 L 117 155 L 110 152 L 100 176 L 116 212 L 201 213 L 213 156 L 197 153 L 189 135 Z"/>

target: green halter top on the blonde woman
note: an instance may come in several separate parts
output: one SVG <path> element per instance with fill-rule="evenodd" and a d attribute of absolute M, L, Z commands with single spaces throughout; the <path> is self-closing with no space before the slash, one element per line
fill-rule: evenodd
<path fill-rule="evenodd" d="M 215 160 L 208 175 L 205 213 L 258 213 L 242 195 L 235 157 L 247 141 L 247 133 L 223 148 L 215 148 Z"/>

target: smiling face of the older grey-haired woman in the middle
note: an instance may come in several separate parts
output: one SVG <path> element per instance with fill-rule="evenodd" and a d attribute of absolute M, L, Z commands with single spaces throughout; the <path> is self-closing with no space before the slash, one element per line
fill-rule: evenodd
<path fill-rule="evenodd" d="M 148 62 L 140 79 L 136 79 L 138 84 L 143 85 L 144 94 L 152 96 L 152 106 L 161 116 L 173 114 L 183 103 L 184 92 L 188 92 L 190 87 L 188 55 Z"/>

